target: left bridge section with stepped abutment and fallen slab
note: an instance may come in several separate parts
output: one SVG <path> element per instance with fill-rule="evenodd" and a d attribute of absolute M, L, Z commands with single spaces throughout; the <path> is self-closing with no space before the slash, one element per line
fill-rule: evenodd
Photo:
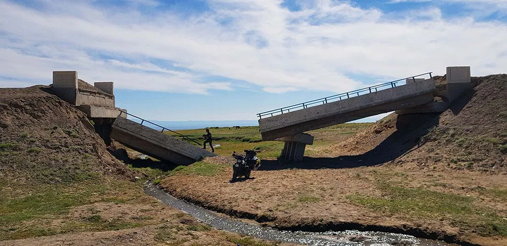
<path fill-rule="evenodd" d="M 92 86 L 79 79 L 77 71 L 53 71 L 52 90 L 62 100 L 85 112 L 93 121 L 95 132 L 107 145 L 114 139 L 143 154 L 177 165 L 189 165 L 202 157 L 215 155 L 200 146 L 165 134 L 164 131 L 173 132 L 167 128 L 115 107 L 113 82 L 96 82 Z M 138 118 L 141 123 L 127 119 L 128 116 Z M 143 126 L 143 122 L 149 122 L 161 131 Z"/>

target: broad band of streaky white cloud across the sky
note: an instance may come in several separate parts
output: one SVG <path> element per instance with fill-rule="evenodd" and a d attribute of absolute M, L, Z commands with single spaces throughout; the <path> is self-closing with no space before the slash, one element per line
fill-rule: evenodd
<path fill-rule="evenodd" d="M 38 3 L 44 12 L 0 2 L 0 76 L 49 84 L 51 71 L 68 69 L 89 81 L 113 80 L 116 88 L 205 94 L 233 88 L 208 76 L 269 93 L 344 92 L 377 83 L 350 74 L 400 78 L 443 74 L 452 65 L 471 65 L 474 75 L 507 70 L 498 55 L 507 52 L 505 23 L 445 20 L 438 8 L 393 18 L 348 1 L 306 0 L 291 12 L 281 1 L 210 0 L 213 11 L 182 18 L 97 9 L 90 1 Z"/>

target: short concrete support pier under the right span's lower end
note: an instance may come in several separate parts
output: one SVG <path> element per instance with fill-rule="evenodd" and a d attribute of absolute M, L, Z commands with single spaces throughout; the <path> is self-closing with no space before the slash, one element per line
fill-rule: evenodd
<path fill-rule="evenodd" d="M 285 142 L 282 153 L 280 154 L 280 158 L 285 160 L 303 160 L 306 145 L 313 144 L 313 136 L 306 133 L 286 136 L 279 140 Z"/>

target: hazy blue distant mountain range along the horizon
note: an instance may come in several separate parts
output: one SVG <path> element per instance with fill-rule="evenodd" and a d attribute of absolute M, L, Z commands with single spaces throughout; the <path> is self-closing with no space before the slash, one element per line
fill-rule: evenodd
<path fill-rule="evenodd" d="M 141 120 L 129 117 L 129 119 L 140 122 Z M 259 126 L 259 122 L 257 120 L 188 120 L 188 121 L 163 121 L 163 120 L 150 120 L 159 126 L 165 127 L 170 130 L 188 130 L 188 129 L 203 129 L 203 128 L 213 128 L 213 127 L 247 127 L 247 126 Z M 144 123 L 147 127 L 155 128 L 148 123 Z"/>

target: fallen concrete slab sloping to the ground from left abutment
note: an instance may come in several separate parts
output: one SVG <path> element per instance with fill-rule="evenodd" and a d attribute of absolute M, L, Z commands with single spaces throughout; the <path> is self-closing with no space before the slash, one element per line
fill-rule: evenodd
<path fill-rule="evenodd" d="M 201 147 L 120 116 L 113 124 L 111 138 L 141 153 L 178 165 L 189 165 L 202 157 L 215 156 Z"/>

